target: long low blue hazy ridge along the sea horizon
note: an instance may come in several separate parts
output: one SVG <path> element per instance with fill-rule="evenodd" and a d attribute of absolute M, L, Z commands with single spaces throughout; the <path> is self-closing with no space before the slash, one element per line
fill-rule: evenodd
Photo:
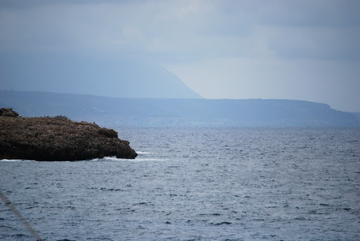
<path fill-rule="evenodd" d="M 0 106 L 26 117 L 66 115 L 103 126 L 359 126 L 352 113 L 302 100 L 106 98 L 0 91 Z"/>

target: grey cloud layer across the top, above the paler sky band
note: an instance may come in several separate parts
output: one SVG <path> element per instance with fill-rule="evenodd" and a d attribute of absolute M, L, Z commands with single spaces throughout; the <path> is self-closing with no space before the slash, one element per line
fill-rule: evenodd
<path fill-rule="evenodd" d="M 358 59 L 357 1 L 0 1 L 1 48 Z"/>

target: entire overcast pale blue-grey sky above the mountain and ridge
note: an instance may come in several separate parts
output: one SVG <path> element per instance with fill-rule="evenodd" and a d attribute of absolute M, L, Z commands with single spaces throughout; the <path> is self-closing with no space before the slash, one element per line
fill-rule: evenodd
<path fill-rule="evenodd" d="M 358 0 L 0 0 L 0 51 L 131 56 L 204 98 L 360 112 Z"/>

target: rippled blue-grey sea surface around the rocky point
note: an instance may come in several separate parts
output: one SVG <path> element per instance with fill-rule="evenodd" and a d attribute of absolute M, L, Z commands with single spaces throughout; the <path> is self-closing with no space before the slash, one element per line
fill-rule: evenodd
<path fill-rule="evenodd" d="M 0 161 L 42 239 L 360 240 L 360 129 L 115 130 L 136 159 Z M 34 240 L 2 201 L 0 240 Z"/>

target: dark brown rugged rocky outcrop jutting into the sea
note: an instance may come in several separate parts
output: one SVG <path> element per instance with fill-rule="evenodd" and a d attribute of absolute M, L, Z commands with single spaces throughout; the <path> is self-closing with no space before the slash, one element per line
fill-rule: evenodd
<path fill-rule="evenodd" d="M 129 141 L 117 138 L 113 129 L 63 116 L 18 117 L 8 115 L 13 110 L 5 108 L 0 113 L 0 159 L 74 161 L 137 156 Z"/>

